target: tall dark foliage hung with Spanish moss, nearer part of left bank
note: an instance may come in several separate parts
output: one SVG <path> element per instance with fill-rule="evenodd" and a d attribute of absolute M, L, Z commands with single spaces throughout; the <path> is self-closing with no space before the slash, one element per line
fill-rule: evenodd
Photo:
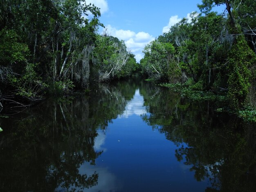
<path fill-rule="evenodd" d="M 8 0 L 0 10 L 1 94 L 37 100 L 51 85 L 62 92 L 73 82 L 88 85 L 92 43 L 103 26 L 99 8 L 84 0 Z"/>

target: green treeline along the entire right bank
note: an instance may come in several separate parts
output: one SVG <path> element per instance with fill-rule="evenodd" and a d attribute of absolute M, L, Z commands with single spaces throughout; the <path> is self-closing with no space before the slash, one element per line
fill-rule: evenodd
<path fill-rule="evenodd" d="M 224 13 L 211 11 L 225 6 Z M 232 108 L 256 106 L 256 1 L 202 0 L 144 48 L 142 73 L 198 91 L 227 94 Z"/>

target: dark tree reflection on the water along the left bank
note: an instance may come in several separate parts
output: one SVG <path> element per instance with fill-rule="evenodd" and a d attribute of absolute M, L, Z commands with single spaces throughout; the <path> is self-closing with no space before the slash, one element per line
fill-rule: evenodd
<path fill-rule="evenodd" d="M 120 86 L 101 85 L 90 96 L 48 100 L 1 119 L 0 191 L 81 191 L 97 185 L 99 173 L 81 174 L 79 167 L 95 165 L 102 153 L 94 150 L 97 129 L 123 113 L 127 100 Z"/>

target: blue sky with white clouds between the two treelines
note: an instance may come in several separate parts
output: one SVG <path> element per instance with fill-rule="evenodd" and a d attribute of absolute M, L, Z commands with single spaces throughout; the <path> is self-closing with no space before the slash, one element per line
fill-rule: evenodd
<path fill-rule="evenodd" d="M 146 44 L 181 20 L 198 11 L 201 0 L 86 0 L 101 9 L 100 21 L 108 34 L 124 40 L 135 54 L 143 57 Z M 218 8 L 219 11 L 222 8 Z M 102 32 L 102 29 L 99 31 Z"/>

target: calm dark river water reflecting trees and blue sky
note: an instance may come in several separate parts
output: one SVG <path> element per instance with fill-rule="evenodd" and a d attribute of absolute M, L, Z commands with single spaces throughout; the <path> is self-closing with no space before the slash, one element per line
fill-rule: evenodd
<path fill-rule="evenodd" d="M 0 191 L 256 191 L 256 126 L 143 80 L 0 118 Z"/>

